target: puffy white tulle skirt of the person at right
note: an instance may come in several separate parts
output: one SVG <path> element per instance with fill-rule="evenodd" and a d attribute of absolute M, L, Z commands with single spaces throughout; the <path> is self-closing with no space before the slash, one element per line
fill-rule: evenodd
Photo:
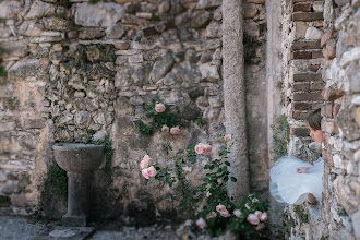
<path fill-rule="evenodd" d="M 308 173 L 298 173 L 297 168 L 300 167 L 310 167 L 310 169 Z M 281 157 L 269 171 L 269 191 L 280 203 L 302 204 L 308 193 L 312 193 L 317 201 L 321 201 L 323 171 L 322 158 L 311 165 L 291 156 Z"/>

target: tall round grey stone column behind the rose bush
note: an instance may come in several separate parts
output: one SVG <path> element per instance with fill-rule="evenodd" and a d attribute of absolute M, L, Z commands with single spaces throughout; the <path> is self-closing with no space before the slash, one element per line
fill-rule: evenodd
<path fill-rule="evenodd" d="M 235 169 L 229 169 L 238 181 L 228 191 L 240 201 L 249 193 L 249 164 L 245 118 L 245 84 L 243 62 L 242 1 L 223 0 L 223 67 L 226 132 L 238 141 L 231 148 Z"/>

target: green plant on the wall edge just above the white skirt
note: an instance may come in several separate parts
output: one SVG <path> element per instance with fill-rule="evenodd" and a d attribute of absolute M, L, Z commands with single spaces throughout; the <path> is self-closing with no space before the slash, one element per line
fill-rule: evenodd
<path fill-rule="evenodd" d="M 279 116 L 275 123 L 271 125 L 273 130 L 274 159 L 278 159 L 288 154 L 287 145 L 290 141 L 290 125 L 285 115 Z"/>

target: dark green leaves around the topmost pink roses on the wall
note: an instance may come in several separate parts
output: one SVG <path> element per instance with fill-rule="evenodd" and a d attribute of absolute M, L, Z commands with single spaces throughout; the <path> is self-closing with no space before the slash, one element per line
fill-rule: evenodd
<path fill-rule="evenodd" d="M 155 106 L 156 101 L 153 99 L 146 111 L 146 117 L 152 120 L 148 124 L 145 124 L 142 120 L 135 121 L 137 131 L 143 135 L 153 135 L 155 130 L 160 130 L 163 125 L 169 128 L 177 125 L 178 116 L 170 112 L 170 107 L 167 104 L 165 104 L 166 109 L 164 112 L 156 112 Z"/>

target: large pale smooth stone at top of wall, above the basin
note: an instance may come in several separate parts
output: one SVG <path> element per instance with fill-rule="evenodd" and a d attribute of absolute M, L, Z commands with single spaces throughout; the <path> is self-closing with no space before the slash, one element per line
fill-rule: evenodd
<path fill-rule="evenodd" d="M 82 26 L 109 27 L 123 16 L 124 9 L 113 2 L 81 3 L 76 9 L 75 23 Z"/>

